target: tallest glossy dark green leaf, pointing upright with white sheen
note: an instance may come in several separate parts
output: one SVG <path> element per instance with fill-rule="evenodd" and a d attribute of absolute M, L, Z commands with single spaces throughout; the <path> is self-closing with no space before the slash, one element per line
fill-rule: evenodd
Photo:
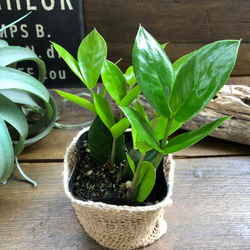
<path fill-rule="evenodd" d="M 172 64 L 161 45 L 142 27 L 133 48 L 133 67 L 142 93 L 160 114 L 169 117 L 174 83 Z"/>

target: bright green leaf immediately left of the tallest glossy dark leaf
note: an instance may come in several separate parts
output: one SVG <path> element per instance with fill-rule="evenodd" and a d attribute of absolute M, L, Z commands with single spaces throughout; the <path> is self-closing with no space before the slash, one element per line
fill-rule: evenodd
<path fill-rule="evenodd" d="M 118 66 L 108 60 L 103 64 L 102 80 L 111 97 L 120 105 L 127 94 L 126 79 Z"/>

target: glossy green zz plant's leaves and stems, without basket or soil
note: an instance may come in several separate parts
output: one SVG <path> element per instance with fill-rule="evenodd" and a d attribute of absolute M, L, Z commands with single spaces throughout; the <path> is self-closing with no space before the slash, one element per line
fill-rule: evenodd
<path fill-rule="evenodd" d="M 80 44 L 77 60 L 60 45 L 53 45 L 90 91 L 91 100 L 86 100 L 57 90 L 63 98 L 96 114 L 88 138 L 94 160 L 100 161 L 99 146 L 108 142 L 100 154 L 106 156 L 103 159 L 109 162 L 108 169 L 112 171 L 115 160 L 124 158 L 123 133 L 131 126 L 133 150 L 127 154 L 128 164 L 123 170 L 123 177 L 131 181 L 127 191 L 129 199 L 146 199 L 165 154 L 193 145 L 229 118 L 221 117 L 169 139 L 226 83 L 235 65 L 240 41 L 216 41 L 171 63 L 164 51 L 165 45 L 160 45 L 140 27 L 134 43 L 132 66 L 125 74 L 117 64 L 107 60 L 107 45 L 95 29 Z M 94 89 L 100 76 L 103 89 L 97 93 Z M 120 107 L 119 117 L 114 117 L 105 99 L 106 91 Z M 141 93 L 154 110 L 151 120 L 140 103 Z M 116 156 L 117 152 L 121 155 Z"/>

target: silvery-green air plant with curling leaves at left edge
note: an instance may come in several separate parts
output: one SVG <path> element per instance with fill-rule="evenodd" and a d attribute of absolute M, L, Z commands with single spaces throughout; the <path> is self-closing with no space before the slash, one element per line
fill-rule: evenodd
<path fill-rule="evenodd" d="M 38 79 L 16 69 L 17 63 L 25 60 L 37 64 Z M 17 156 L 54 126 L 56 104 L 43 85 L 45 75 L 45 64 L 33 51 L 0 40 L 0 183 L 6 182 L 15 162 L 21 175 L 36 186 L 23 173 Z"/>

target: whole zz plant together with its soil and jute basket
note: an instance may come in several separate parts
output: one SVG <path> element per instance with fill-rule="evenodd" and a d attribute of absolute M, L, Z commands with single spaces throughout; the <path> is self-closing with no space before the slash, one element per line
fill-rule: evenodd
<path fill-rule="evenodd" d="M 239 44 L 236 40 L 217 41 L 172 64 L 165 45 L 140 27 L 132 66 L 123 74 L 117 64 L 107 60 L 107 45 L 96 30 L 83 39 L 77 60 L 53 43 L 91 98 L 57 90 L 58 94 L 96 114 L 90 128 L 81 131 L 67 150 L 64 186 L 84 229 L 99 244 L 134 249 L 151 244 L 166 232 L 163 212 L 171 204 L 171 154 L 201 140 L 229 117 L 171 139 L 169 135 L 198 114 L 226 83 Z M 100 76 L 103 88 L 98 91 Z M 118 116 L 114 116 L 106 92 L 119 107 Z M 148 118 L 140 104 L 141 94 L 154 117 Z M 128 127 L 129 135 L 125 132 Z M 164 155 L 168 156 L 163 160 Z M 163 194 L 154 194 L 161 190 Z"/>

